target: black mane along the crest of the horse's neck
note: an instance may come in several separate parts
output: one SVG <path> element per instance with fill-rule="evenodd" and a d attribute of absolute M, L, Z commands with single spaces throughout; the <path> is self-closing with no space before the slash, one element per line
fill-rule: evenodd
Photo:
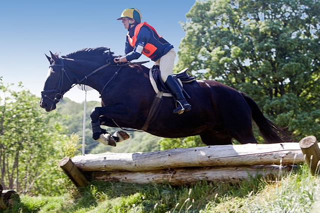
<path fill-rule="evenodd" d="M 105 56 L 110 57 L 113 56 L 113 52 L 110 51 L 107 47 L 94 47 L 94 48 L 84 48 L 77 50 L 75 52 L 69 53 L 62 58 L 81 58 L 81 57 L 88 57 L 88 56 Z"/>

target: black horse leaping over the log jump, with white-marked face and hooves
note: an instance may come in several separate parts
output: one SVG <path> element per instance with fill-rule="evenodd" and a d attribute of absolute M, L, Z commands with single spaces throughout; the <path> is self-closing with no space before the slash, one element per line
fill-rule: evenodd
<path fill-rule="evenodd" d="M 92 110 L 92 137 L 115 146 L 128 138 L 123 131 L 113 135 L 100 128 L 132 128 L 145 130 L 165 138 L 199 135 L 206 145 L 257 143 L 252 134 L 252 120 L 266 143 L 289 141 L 281 128 L 266 119 L 256 103 L 247 95 L 214 80 L 193 80 L 183 83 L 192 110 L 173 114 L 172 97 L 158 98 L 157 108 L 151 107 L 156 92 L 149 79 L 149 68 L 137 64 L 111 65 L 113 52 L 105 47 L 87 48 L 59 57 L 46 56 L 50 69 L 41 92 L 40 107 L 47 112 L 75 84 L 85 84 L 101 95 L 101 106 Z M 150 113 L 149 111 L 153 112 Z M 150 117 L 151 114 L 151 117 Z M 147 125 L 146 125 L 147 121 Z"/>

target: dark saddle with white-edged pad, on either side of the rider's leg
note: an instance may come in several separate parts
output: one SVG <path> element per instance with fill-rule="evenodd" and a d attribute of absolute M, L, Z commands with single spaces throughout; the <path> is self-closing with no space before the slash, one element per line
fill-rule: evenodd
<path fill-rule="evenodd" d="M 193 76 L 189 75 L 186 72 L 187 70 L 188 70 L 188 68 L 185 68 L 185 69 L 181 70 L 179 73 L 172 74 L 172 77 L 178 83 L 178 85 L 180 85 L 181 90 L 189 97 L 189 95 L 183 89 L 182 83 L 191 82 L 191 81 L 195 80 L 195 78 Z M 164 93 L 170 93 L 169 90 L 165 87 L 164 82 L 161 79 L 159 66 L 153 65 L 152 68 L 150 69 L 150 71 L 151 71 L 150 81 L 153 86 L 153 89 L 155 90 L 154 85 L 153 85 L 153 84 L 155 84 L 158 91 L 162 91 Z M 153 79 L 151 79 L 151 78 L 153 78 Z M 155 90 L 156 93 L 158 91 Z"/>

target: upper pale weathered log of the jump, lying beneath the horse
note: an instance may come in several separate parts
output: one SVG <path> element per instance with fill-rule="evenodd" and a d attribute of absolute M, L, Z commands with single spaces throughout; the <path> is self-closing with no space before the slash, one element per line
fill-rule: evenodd
<path fill-rule="evenodd" d="M 175 148 L 149 153 L 89 154 L 75 156 L 72 162 L 85 172 L 139 172 L 184 167 L 290 165 L 302 163 L 303 154 L 298 143 L 244 144 Z"/>

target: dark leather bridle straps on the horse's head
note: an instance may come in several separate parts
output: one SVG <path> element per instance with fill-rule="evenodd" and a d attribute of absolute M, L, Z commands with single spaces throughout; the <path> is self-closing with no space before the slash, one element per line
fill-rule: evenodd
<path fill-rule="evenodd" d="M 56 104 L 59 100 L 62 99 L 64 93 L 66 93 L 67 91 L 69 91 L 69 89 L 72 88 L 69 87 L 68 89 L 62 91 L 62 86 L 63 86 L 63 80 L 64 80 L 64 75 L 65 77 L 69 80 L 69 82 L 72 84 L 72 81 L 71 79 L 69 78 L 69 76 L 67 75 L 65 69 L 64 69 L 64 63 L 63 63 L 63 59 L 62 58 L 59 58 L 61 60 L 61 64 L 52 64 L 50 65 L 49 67 L 52 68 L 52 67 L 56 67 L 56 66 L 59 66 L 61 67 L 61 75 L 60 75 L 60 78 L 59 78 L 59 82 L 58 82 L 58 85 L 57 85 L 57 89 L 49 89 L 49 90 L 44 90 L 41 92 L 41 97 L 42 98 L 47 98 L 49 99 L 50 101 L 52 101 L 54 104 Z M 56 92 L 55 96 L 54 96 L 54 99 L 50 98 L 49 96 L 47 96 L 45 93 L 49 93 L 49 92 Z"/>

